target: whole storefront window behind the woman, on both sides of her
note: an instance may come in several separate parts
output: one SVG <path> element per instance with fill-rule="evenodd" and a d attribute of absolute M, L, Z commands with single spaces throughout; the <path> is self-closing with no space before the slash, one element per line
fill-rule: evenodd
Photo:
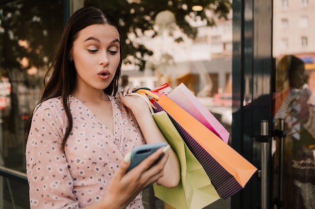
<path fill-rule="evenodd" d="M 117 17 L 123 40 L 122 75 L 129 84 L 154 88 L 168 82 L 175 88 L 184 83 L 231 133 L 232 11 L 228 1 L 211 5 L 183 0 L 7 2 L 0 5 L 0 162 L 4 167 L 25 172 L 25 122 L 55 55 L 65 2 L 70 3 L 70 13 L 95 6 Z M 193 6 L 199 7 L 192 10 Z M 2 177 L 0 187 L 0 208 L 28 208 L 27 184 Z M 146 207 L 168 207 L 149 189 L 143 199 Z M 207 208 L 215 205 L 230 208 L 230 201 L 220 199 Z"/>

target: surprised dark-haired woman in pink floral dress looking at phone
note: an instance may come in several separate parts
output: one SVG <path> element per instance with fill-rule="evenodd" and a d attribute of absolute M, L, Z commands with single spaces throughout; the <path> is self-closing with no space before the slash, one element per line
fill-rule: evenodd
<path fill-rule="evenodd" d="M 166 140 L 145 101 L 128 95 L 136 88 L 112 96 L 120 68 L 121 40 L 113 18 L 96 8 L 76 11 L 26 127 L 32 209 L 143 208 L 145 186 L 178 184 L 179 163 L 169 145 L 126 173 L 134 146 Z"/>

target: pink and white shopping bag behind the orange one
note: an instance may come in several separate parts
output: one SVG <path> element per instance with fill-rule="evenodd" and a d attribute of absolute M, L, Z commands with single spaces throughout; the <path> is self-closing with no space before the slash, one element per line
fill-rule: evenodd
<path fill-rule="evenodd" d="M 228 142 L 229 132 L 183 83 L 173 89 L 168 97 L 219 136 L 225 143 Z"/>

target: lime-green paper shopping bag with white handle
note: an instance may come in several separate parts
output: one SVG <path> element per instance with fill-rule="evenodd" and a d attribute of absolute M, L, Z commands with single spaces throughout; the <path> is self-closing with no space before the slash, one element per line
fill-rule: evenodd
<path fill-rule="evenodd" d="M 148 102 L 143 94 L 136 94 Z M 181 180 L 174 188 L 153 184 L 154 195 L 178 209 L 201 209 L 220 198 L 202 165 L 189 150 L 165 111 L 149 108 L 156 125 L 177 154 Z"/>

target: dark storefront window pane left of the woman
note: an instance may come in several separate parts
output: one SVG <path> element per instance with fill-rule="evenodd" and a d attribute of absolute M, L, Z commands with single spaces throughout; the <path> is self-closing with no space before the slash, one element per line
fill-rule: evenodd
<path fill-rule="evenodd" d="M 25 172 L 25 122 L 60 38 L 63 2 L 0 5 L 0 163 L 18 172 Z M 1 177 L 0 189 L 0 208 L 28 208 L 27 184 Z"/>

